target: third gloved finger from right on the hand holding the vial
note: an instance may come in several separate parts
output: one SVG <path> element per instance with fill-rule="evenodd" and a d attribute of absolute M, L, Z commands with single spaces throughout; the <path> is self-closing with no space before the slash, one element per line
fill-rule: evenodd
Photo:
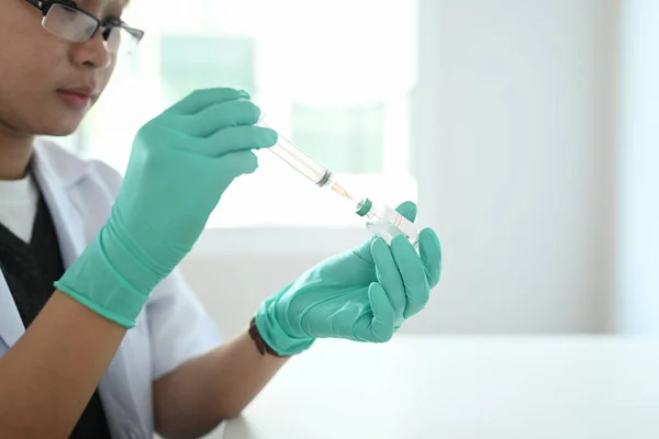
<path fill-rule="evenodd" d="M 389 296 L 394 314 L 400 319 L 403 317 L 407 299 L 391 248 L 382 238 L 376 238 L 371 244 L 371 255 L 376 264 L 376 279 Z"/>

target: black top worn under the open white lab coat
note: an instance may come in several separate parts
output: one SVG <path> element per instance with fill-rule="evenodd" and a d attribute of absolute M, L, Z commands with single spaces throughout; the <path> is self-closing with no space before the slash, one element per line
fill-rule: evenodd
<path fill-rule="evenodd" d="M 53 218 L 41 194 L 32 230 L 32 240 L 26 244 L 0 224 L 0 269 L 25 328 L 32 324 L 53 294 L 53 282 L 64 273 Z M 110 439 L 108 420 L 98 390 L 94 391 L 70 438 Z"/>

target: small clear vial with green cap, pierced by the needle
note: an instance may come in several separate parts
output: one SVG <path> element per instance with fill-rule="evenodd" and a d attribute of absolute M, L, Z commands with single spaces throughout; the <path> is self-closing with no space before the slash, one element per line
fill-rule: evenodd
<path fill-rule="evenodd" d="M 395 209 L 364 199 L 357 203 L 356 213 L 366 219 L 366 228 L 387 244 L 391 244 L 394 236 L 405 235 L 415 248 L 418 247 L 418 227 Z"/>

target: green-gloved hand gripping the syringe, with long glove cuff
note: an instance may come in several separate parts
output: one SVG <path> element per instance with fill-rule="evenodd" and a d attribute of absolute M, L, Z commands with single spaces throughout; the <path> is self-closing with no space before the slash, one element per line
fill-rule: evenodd
<path fill-rule="evenodd" d="M 277 133 L 255 126 L 244 91 L 198 90 L 145 124 L 110 217 L 55 283 L 92 311 L 133 327 L 152 290 L 192 248 L 222 193 L 252 173 L 252 149 Z"/>

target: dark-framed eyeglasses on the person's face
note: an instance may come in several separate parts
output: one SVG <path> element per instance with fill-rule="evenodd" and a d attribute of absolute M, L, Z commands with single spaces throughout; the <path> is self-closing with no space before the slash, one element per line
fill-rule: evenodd
<path fill-rule="evenodd" d="M 85 43 L 94 37 L 102 27 L 102 36 L 108 52 L 129 54 L 139 44 L 144 32 L 129 27 L 119 19 L 99 20 L 79 9 L 69 0 L 40 1 L 26 0 L 42 11 L 42 26 L 60 38 Z"/>

